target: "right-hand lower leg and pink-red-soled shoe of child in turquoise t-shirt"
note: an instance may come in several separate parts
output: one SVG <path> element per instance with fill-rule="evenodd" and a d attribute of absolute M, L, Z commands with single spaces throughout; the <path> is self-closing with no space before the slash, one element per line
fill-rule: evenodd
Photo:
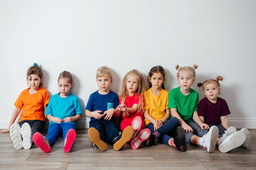
<path fill-rule="evenodd" d="M 76 134 L 76 125 L 74 123 L 63 123 L 61 125 L 62 132 L 63 132 L 63 139 L 64 139 L 64 152 L 70 152 L 74 140 L 76 140 L 77 134 Z"/>

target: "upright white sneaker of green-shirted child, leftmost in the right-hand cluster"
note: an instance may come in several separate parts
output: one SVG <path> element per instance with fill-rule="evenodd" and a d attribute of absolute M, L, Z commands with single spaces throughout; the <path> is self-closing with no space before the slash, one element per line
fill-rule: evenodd
<path fill-rule="evenodd" d="M 213 152 L 216 147 L 216 140 L 218 138 L 217 126 L 212 126 L 208 133 L 203 136 L 203 146 L 207 152 Z"/>

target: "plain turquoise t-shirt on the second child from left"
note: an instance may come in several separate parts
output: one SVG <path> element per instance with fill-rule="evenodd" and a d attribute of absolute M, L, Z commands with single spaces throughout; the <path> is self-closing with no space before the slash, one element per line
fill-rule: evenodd
<path fill-rule="evenodd" d="M 67 117 L 73 117 L 74 115 L 83 113 L 77 96 L 70 93 L 66 98 L 62 98 L 59 94 L 60 93 L 55 94 L 50 98 L 48 107 L 45 111 L 46 115 L 52 115 L 53 117 L 61 118 L 63 120 Z"/>

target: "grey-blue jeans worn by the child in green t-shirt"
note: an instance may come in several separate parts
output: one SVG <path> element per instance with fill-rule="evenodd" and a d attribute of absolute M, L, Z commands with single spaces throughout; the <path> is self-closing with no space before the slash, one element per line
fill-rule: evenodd
<path fill-rule="evenodd" d="M 189 144 L 191 144 L 191 137 L 193 135 L 197 135 L 199 137 L 203 137 L 204 135 L 206 135 L 206 133 L 208 133 L 208 130 L 202 130 L 200 128 L 200 126 L 197 123 L 195 123 L 194 121 L 191 121 L 191 122 L 189 122 L 187 124 L 194 130 L 194 133 L 186 132 L 185 140 Z"/>

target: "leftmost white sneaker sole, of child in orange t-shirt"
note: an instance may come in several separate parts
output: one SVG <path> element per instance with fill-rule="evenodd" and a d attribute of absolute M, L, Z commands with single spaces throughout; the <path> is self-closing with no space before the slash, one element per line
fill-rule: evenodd
<path fill-rule="evenodd" d="M 21 127 L 17 123 L 13 123 L 10 128 L 10 136 L 13 141 L 13 147 L 15 149 L 21 149 L 23 147 L 21 140 Z"/>

